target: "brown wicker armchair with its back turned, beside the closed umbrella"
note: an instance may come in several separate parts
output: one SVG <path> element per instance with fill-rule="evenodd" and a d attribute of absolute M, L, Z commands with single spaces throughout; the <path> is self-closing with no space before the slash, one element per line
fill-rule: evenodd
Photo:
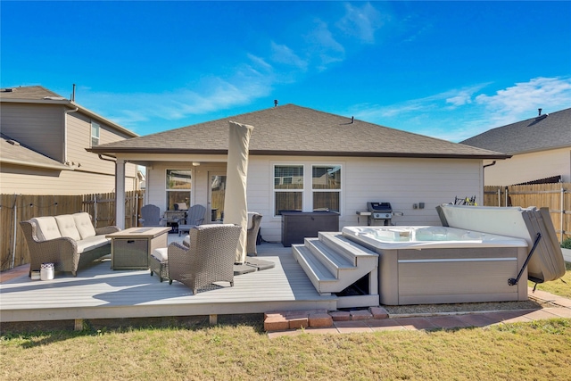
<path fill-rule="evenodd" d="M 237 225 L 200 225 L 190 228 L 190 247 L 169 245 L 169 283 L 173 280 L 197 290 L 213 282 L 234 286 L 234 260 L 240 239 Z"/>

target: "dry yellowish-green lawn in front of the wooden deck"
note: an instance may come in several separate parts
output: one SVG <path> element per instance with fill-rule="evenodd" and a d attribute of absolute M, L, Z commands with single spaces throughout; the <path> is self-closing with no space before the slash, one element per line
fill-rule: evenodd
<path fill-rule="evenodd" d="M 261 319 L 6 334 L 0 377 L 29 379 L 571 379 L 571 319 L 269 339 Z"/>

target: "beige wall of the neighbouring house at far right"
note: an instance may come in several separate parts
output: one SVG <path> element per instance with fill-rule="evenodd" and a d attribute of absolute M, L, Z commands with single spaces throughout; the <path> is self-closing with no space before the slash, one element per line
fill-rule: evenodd
<path fill-rule="evenodd" d="M 485 163 L 484 163 L 485 164 Z M 484 170 L 486 186 L 510 186 L 540 178 L 561 176 L 571 182 L 571 148 L 515 154 Z"/>

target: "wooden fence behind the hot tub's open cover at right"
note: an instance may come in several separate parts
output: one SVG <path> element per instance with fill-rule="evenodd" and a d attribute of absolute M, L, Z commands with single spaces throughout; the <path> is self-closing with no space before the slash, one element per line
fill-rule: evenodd
<path fill-rule="evenodd" d="M 559 242 L 571 237 L 571 183 L 484 186 L 484 205 L 547 207 Z"/>

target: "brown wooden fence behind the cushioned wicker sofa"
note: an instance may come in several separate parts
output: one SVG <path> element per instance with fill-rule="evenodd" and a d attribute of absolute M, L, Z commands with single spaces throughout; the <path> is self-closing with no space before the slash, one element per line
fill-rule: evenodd
<path fill-rule="evenodd" d="M 125 228 L 136 227 L 145 191 L 126 193 Z M 115 224 L 115 194 L 98 195 L 0 195 L 0 270 L 29 263 L 26 238 L 20 221 L 87 211 L 95 228 Z"/>

